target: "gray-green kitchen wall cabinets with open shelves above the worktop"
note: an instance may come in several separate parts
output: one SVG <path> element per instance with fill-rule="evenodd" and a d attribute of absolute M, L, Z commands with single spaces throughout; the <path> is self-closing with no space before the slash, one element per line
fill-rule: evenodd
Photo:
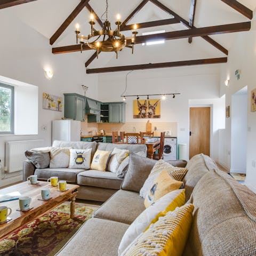
<path fill-rule="evenodd" d="M 88 123 L 125 123 L 125 102 L 100 102 L 76 93 L 65 93 L 66 118 Z"/>

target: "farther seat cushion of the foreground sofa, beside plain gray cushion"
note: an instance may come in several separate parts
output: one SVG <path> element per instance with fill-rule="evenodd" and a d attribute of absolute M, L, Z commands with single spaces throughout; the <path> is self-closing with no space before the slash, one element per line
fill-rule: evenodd
<path fill-rule="evenodd" d="M 101 219 L 131 224 L 144 210 L 143 198 L 138 193 L 118 190 L 93 215 Z"/>

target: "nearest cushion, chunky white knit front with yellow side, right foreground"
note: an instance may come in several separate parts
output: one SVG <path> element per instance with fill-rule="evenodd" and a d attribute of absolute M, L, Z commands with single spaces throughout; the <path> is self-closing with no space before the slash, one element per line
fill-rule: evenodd
<path fill-rule="evenodd" d="M 194 206 L 183 205 L 152 224 L 130 244 L 122 256 L 181 256 L 193 220 Z"/>

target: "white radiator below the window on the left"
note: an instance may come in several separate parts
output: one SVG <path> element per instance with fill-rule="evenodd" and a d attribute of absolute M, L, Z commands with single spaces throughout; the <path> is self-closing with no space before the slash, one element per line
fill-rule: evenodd
<path fill-rule="evenodd" d="M 23 140 L 5 142 L 5 166 L 7 172 L 18 172 L 23 169 L 26 160 L 25 151 L 42 147 L 43 140 Z"/>

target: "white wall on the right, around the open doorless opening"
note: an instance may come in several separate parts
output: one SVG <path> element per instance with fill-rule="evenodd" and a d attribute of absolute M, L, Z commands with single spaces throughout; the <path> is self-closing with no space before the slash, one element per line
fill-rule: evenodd
<path fill-rule="evenodd" d="M 255 14 L 254 14 L 255 15 Z M 229 50 L 228 63 L 221 68 L 220 90 L 221 95 L 226 94 L 226 106 L 231 106 L 231 95 L 248 86 L 247 103 L 247 161 L 246 161 L 246 185 L 256 191 L 256 168 L 252 166 L 252 161 L 256 161 L 255 141 L 256 141 L 256 112 L 251 112 L 251 90 L 256 84 L 256 21 L 252 21 L 252 28 L 249 32 L 238 33 L 233 46 Z M 235 70 L 241 69 L 241 78 L 235 77 Z M 225 86 L 224 81 L 230 78 L 229 86 Z M 221 131 L 220 155 L 227 159 L 230 167 L 231 141 L 231 118 L 226 119 L 226 129 Z"/>

